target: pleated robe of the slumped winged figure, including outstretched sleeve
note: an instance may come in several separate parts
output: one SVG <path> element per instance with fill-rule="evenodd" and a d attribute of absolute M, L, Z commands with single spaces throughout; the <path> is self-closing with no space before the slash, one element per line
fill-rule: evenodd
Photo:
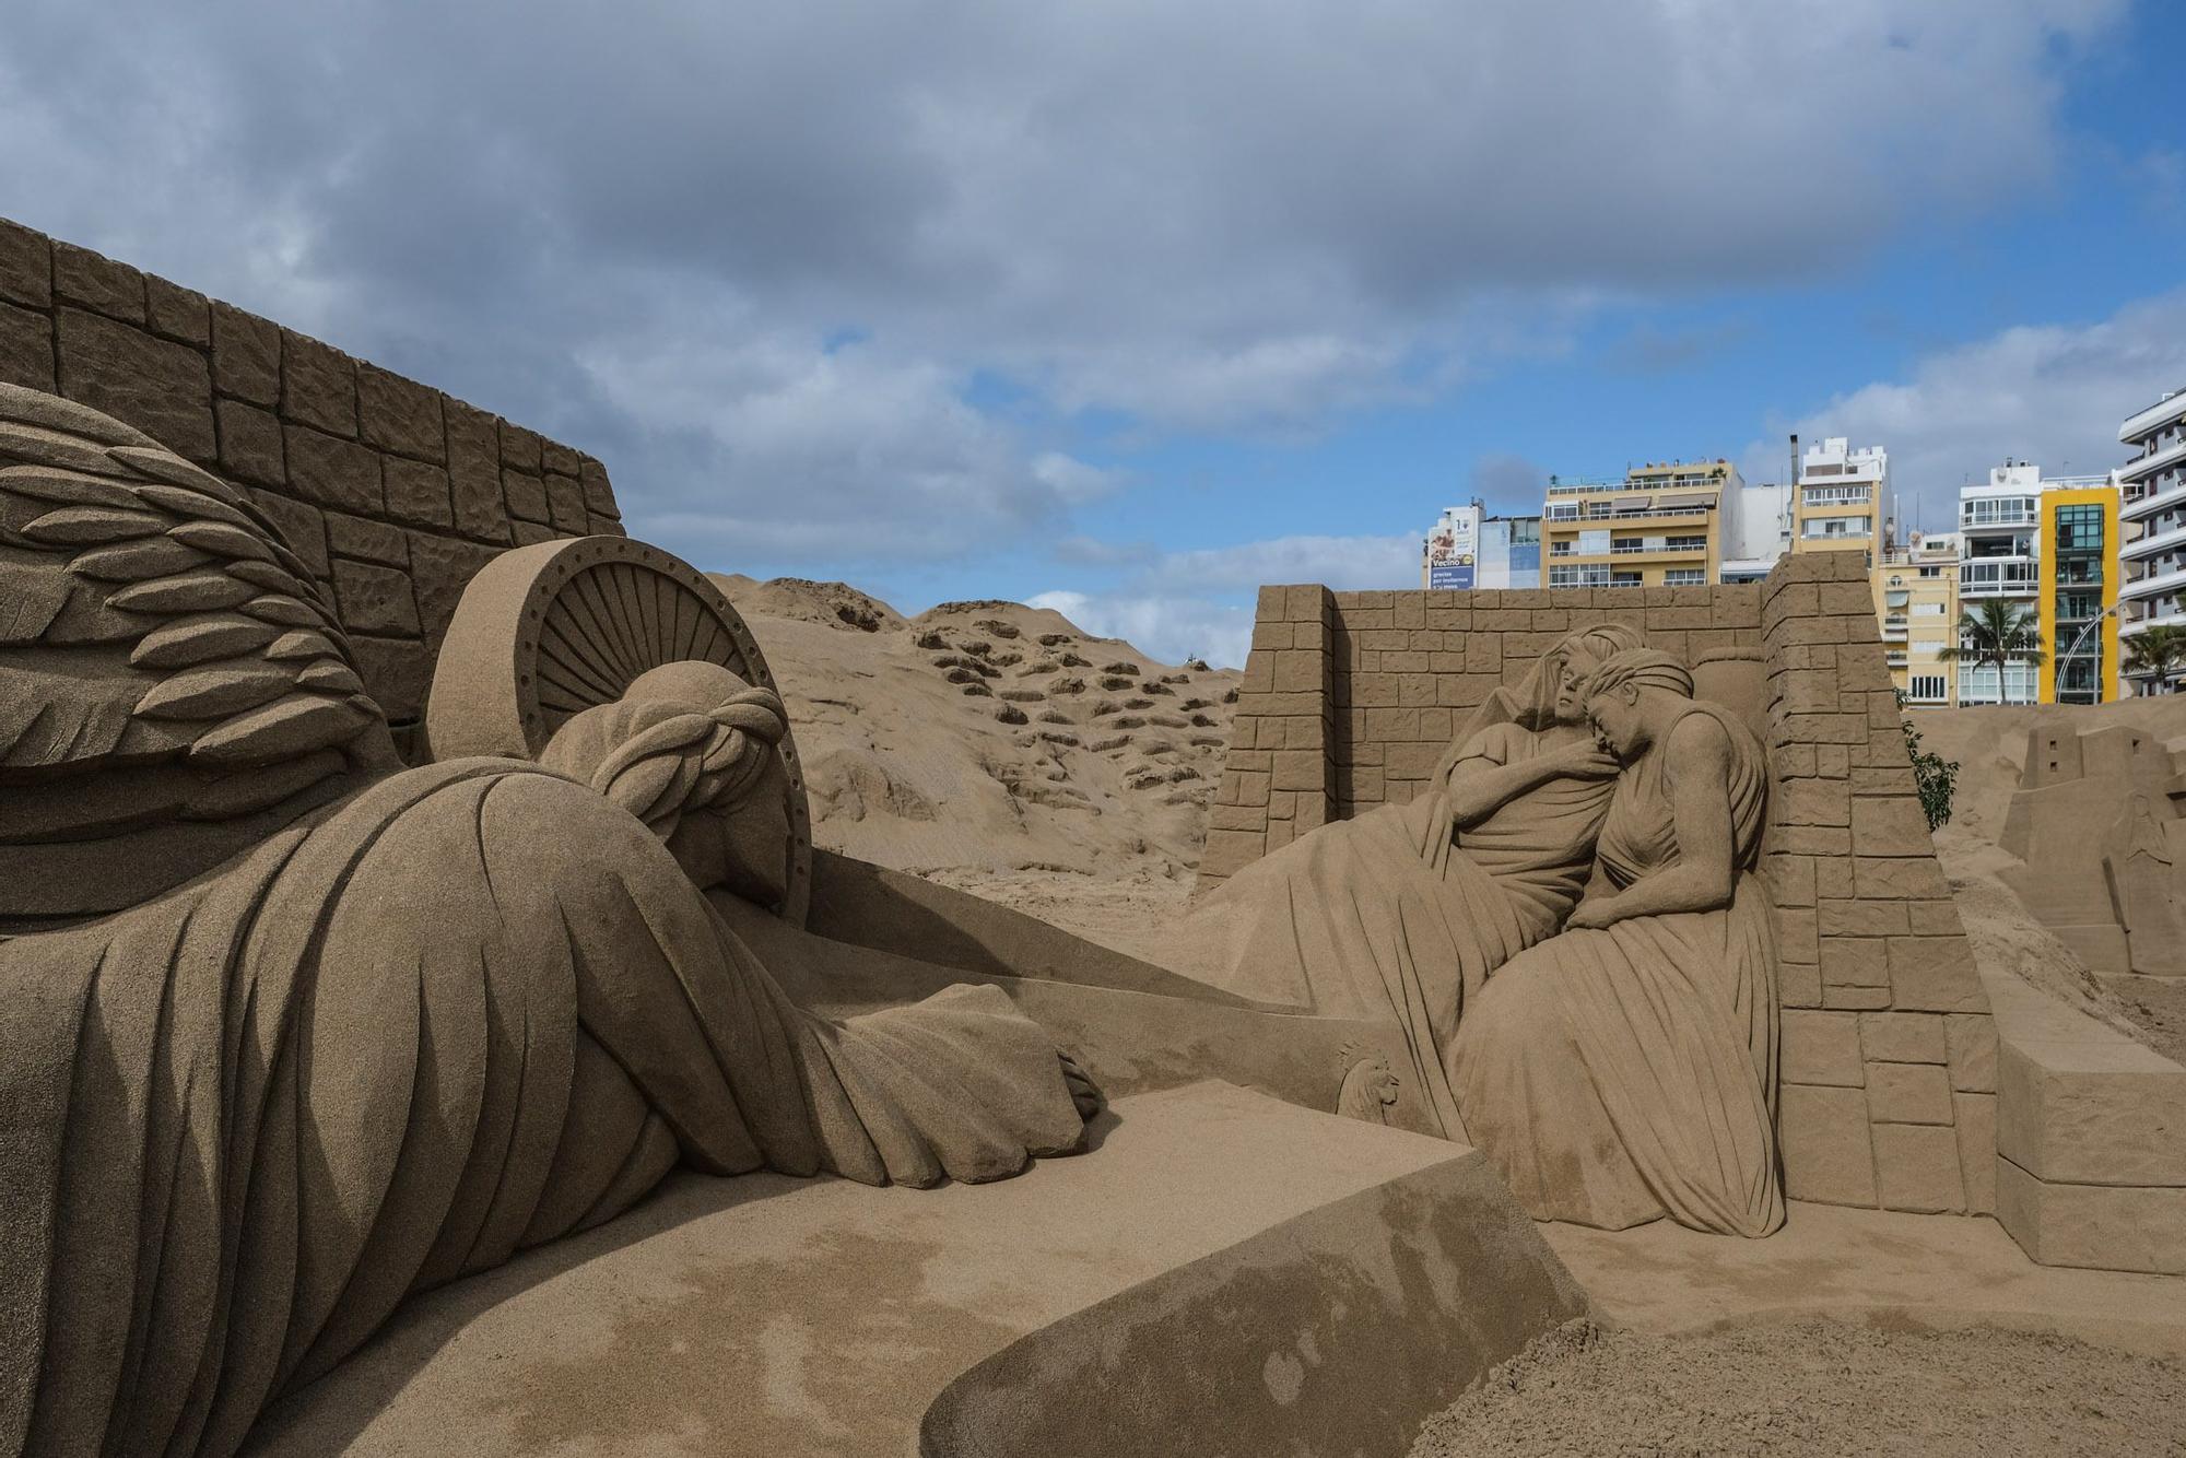
<path fill-rule="evenodd" d="M 398 774 L 0 942 L 0 1451 L 230 1454 L 409 1292 L 671 1165 L 984 1180 L 1080 1141 L 992 988 L 824 1023 L 638 820 Z"/>

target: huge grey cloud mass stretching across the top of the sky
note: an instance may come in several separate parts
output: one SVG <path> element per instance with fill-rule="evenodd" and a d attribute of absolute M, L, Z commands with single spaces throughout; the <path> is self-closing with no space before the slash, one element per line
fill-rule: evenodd
<path fill-rule="evenodd" d="M 2022 197 L 2123 11 L 22 0 L 4 205 L 599 452 L 669 546 L 949 557 L 1117 485 L 1073 415 L 1323 428 Z"/>

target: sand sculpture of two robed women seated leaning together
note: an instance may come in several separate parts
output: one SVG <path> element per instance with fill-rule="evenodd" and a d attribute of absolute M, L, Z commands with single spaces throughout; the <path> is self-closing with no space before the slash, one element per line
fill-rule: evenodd
<path fill-rule="evenodd" d="M 1183 955 L 1231 990 L 1395 1021 L 1434 1132 L 1484 1148 L 1535 1218 L 1768 1235 L 1766 804 L 1738 713 L 1633 630 L 1583 627 L 1467 717 L 1427 793 L 1204 896 Z"/>

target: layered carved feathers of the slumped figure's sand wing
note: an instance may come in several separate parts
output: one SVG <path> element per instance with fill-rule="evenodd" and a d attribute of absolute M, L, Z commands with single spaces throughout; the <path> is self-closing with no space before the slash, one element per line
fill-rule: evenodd
<path fill-rule="evenodd" d="M 50 684 L 22 684 L 48 713 L 0 732 L 0 765 L 319 765 L 383 719 L 324 588 L 245 492 L 109 415 L 7 385 L 0 647 L 11 678 L 42 675 L 50 654 Z M 225 789 L 192 813 L 251 802 Z"/>

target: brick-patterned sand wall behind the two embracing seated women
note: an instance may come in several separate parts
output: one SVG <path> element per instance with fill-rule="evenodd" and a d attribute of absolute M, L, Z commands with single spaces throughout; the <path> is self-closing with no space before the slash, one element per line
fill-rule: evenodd
<path fill-rule="evenodd" d="M 1786 1191 L 1994 1211 L 1996 1032 L 1858 557 L 1788 557 L 1762 584 L 1718 588 L 1261 588 L 1200 887 L 1329 820 L 1410 800 L 1465 715 L 1574 627 L 1629 623 L 1696 665 L 1760 660 Z"/>

